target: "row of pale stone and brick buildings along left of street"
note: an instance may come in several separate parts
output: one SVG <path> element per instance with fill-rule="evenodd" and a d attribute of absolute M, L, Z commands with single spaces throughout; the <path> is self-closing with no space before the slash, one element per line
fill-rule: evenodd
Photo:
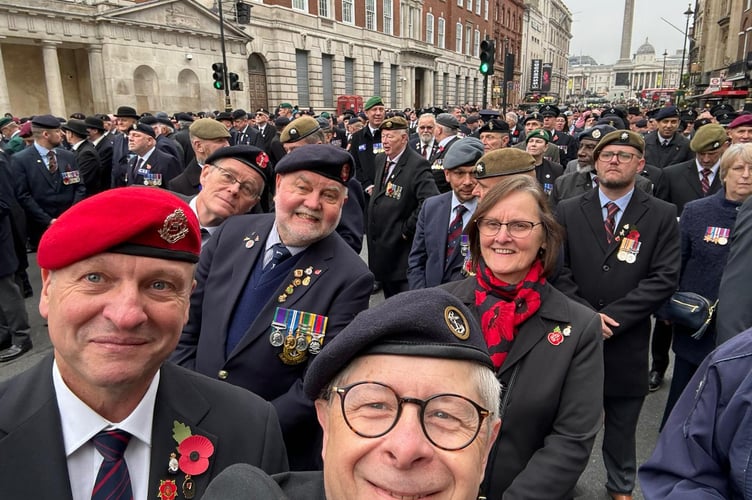
<path fill-rule="evenodd" d="M 494 28 L 521 11 L 521 0 L 252 1 L 245 26 L 235 22 L 234 2 L 222 5 L 228 71 L 244 83 L 230 92 L 233 108 L 293 102 L 331 111 L 338 96 L 352 94 L 381 95 L 393 108 L 480 104 L 480 41 L 497 40 L 497 74 L 503 40 L 521 50 L 520 22 Z M 216 0 L 5 0 L 0 110 L 221 109 L 224 94 L 211 78 L 222 61 L 217 7 Z"/>

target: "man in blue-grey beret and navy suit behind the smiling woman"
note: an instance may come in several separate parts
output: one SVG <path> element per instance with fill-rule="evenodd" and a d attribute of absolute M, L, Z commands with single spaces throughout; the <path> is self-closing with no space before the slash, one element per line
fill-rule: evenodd
<path fill-rule="evenodd" d="M 477 184 L 475 162 L 482 156 L 483 143 L 475 137 L 465 137 L 444 157 L 444 177 L 452 190 L 428 198 L 420 209 L 407 259 L 411 290 L 462 277 L 461 236 L 478 206 L 478 198 L 473 194 Z"/>

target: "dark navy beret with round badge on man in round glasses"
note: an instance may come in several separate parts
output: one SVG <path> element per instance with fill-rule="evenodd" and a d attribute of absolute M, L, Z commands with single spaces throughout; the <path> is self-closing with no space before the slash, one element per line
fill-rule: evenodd
<path fill-rule="evenodd" d="M 311 362 L 306 395 L 318 398 L 355 358 L 369 354 L 471 361 L 493 370 L 483 332 L 465 304 L 440 288 L 424 288 L 358 314 Z"/>

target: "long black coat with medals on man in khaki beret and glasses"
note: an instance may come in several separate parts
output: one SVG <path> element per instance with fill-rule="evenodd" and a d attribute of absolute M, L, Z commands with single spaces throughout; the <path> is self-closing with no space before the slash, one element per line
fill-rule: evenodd
<path fill-rule="evenodd" d="M 634 263 L 618 260 L 621 241 L 606 241 L 598 190 L 556 207 L 566 230 L 564 265 L 554 285 L 570 298 L 620 323 L 604 340 L 606 396 L 648 393 L 650 315 L 676 290 L 681 254 L 676 207 L 636 189 L 615 235 L 637 229 L 641 243 Z M 629 225 L 629 228 L 626 226 Z"/>

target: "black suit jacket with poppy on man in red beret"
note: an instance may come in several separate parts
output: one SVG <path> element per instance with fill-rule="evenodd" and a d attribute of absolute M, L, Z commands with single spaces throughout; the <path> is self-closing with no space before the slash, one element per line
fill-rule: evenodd
<path fill-rule="evenodd" d="M 166 470 L 177 446 L 174 421 L 214 444 L 209 469 L 193 478 L 196 498 L 234 463 L 250 463 L 268 473 L 287 470 L 279 421 L 270 404 L 243 389 L 165 363 L 154 406 L 150 499 L 156 498 L 160 480 L 182 483 L 179 475 Z M 36 499 L 71 499 L 52 356 L 0 384 L 0 463 L 3 498 L 25 498 L 33 488 Z"/>

